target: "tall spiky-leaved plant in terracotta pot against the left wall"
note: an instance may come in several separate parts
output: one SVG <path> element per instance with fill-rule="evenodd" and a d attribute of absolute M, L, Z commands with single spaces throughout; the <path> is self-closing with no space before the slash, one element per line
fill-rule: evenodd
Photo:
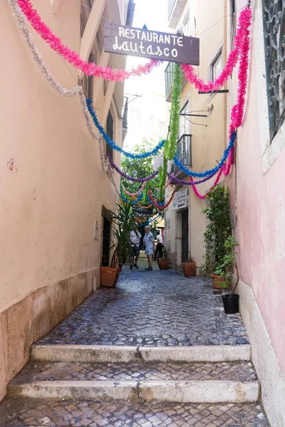
<path fill-rule="evenodd" d="M 117 204 L 117 211 L 112 212 L 112 220 L 115 223 L 113 231 L 113 255 L 110 267 L 100 267 L 101 285 L 113 288 L 118 281 L 123 262 L 128 259 L 131 243 L 130 231 L 135 228 L 135 218 L 131 203 Z"/>

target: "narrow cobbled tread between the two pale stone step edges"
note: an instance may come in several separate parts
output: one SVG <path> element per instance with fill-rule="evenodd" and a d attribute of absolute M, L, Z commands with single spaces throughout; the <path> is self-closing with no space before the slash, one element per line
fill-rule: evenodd
<path fill-rule="evenodd" d="M 33 381 L 88 380 L 208 380 L 254 381 L 251 363 L 38 363 L 31 362 L 12 384 Z"/>

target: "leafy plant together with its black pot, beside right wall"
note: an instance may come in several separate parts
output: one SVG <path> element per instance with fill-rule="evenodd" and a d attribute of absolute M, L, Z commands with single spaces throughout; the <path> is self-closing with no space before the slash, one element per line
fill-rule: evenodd
<path fill-rule="evenodd" d="M 224 312 L 227 315 L 239 312 L 239 295 L 234 293 L 239 283 L 239 269 L 237 267 L 237 253 L 235 251 L 237 246 L 239 246 L 239 243 L 237 243 L 236 239 L 233 236 L 229 236 L 224 242 L 224 258 L 222 258 L 221 263 L 214 272 L 220 280 L 220 287 L 225 290 L 230 288 L 232 283 L 232 268 L 234 267 L 237 271 L 237 282 L 233 286 L 232 292 L 222 295 Z"/>

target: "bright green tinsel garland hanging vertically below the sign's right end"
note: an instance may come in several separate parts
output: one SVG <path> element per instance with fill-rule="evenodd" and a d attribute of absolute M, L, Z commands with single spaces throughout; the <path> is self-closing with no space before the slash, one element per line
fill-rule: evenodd
<path fill-rule="evenodd" d="M 165 142 L 165 158 L 172 160 L 176 152 L 177 135 L 179 133 L 180 100 L 182 92 L 182 69 L 175 63 L 173 71 L 172 102 L 170 113 L 170 135 Z"/>

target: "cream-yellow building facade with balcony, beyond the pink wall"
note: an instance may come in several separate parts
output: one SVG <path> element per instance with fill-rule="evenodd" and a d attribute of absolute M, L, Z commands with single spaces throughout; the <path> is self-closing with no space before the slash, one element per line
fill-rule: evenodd
<path fill-rule="evenodd" d="M 199 38 L 200 63 L 195 67 L 203 80 L 214 80 L 227 56 L 227 13 L 224 0 L 169 0 L 169 26 L 172 31 L 183 31 L 186 36 Z M 207 13 L 205 13 L 207 11 Z M 214 23 L 214 25 L 213 25 Z M 165 70 L 166 100 L 171 100 L 172 70 L 169 63 Z M 225 89 L 225 88 L 222 88 Z M 180 110 L 180 132 L 177 153 L 180 162 L 197 172 L 211 169 L 227 144 L 227 95 L 225 93 L 199 94 L 183 77 Z M 170 169 L 179 179 L 189 181 L 189 176 L 174 165 Z M 200 184 L 205 194 L 213 179 Z M 197 272 L 204 262 L 205 201 L 199 199 L 190 186 L 172 182 L 166 191 L 167 199 L 177 190 L 177 203 L 170 204 L 165 214 L 165 241 L 172 265 L 196 261 Z"/>

